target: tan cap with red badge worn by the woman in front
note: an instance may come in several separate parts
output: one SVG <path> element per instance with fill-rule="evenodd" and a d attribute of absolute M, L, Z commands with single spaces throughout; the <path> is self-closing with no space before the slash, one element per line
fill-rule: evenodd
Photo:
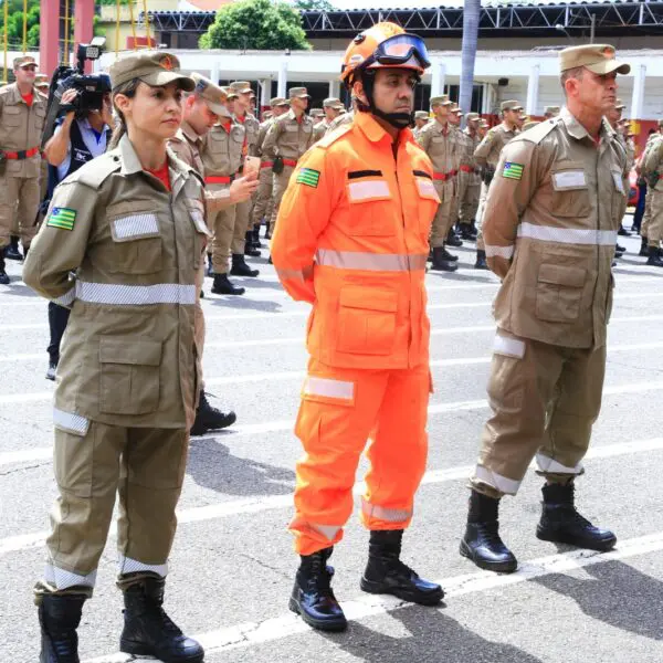
<path fill-rule="evenodd" d="M 177 56 L 166 51 L 131 51 L 110 65 L 110 85 L 115 88 L 134 78 L 152 86 L 177 81 L 182 90 L 192 92 L 196 83 L 179 69 Z"/>

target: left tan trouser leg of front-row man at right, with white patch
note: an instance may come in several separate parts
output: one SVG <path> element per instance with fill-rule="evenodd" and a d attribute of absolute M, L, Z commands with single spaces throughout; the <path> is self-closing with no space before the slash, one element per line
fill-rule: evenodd
<path fill-rule="evenodd" d="M 483 430 L 471 485 L 492 496 L 514 495 L 544 443 L 566 350 L 502 330 L 493 347 L 487 390 L 493 415 Z"/>

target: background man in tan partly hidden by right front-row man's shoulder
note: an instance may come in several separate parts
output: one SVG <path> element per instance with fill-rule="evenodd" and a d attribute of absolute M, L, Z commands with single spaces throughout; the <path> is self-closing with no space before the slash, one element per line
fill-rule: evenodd
<path fill-rule="evenodd" d="M 495 172 L 495 166 L 497 166 L 497 161 L 499 160 L 502 148 L 518 134 L 518 123 L 520 113 L 523 112 L 523 106 L 520 103 L 514 99 L 502 102 L 499 108 L 502 123 L 496 127 L 488 129 L 487 134 L 474 150 L 474 159 L 476 165 L 483 169 L 483 181 L 478 198 L 478 210 L 476 212 L 476 230 L 478 231 L 476 238 L 476 262 L 474 263 L 474 267 L 476 270 L 488 269 L 481 232 L 486 197 L 488 194 L 488 187 L 493 180 L 493 173 Z"/>

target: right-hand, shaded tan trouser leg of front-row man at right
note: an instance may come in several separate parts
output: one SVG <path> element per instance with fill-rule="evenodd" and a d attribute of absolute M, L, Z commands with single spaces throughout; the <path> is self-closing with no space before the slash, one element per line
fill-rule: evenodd
<path fill-rule="evenodd" d="M 544 443 L 537 453 L 539 474 L 549 478 L 582 474 L 591 429 L 601 410 L 606 346 L 568 349 L 555 398 L 548 408 Z"/>

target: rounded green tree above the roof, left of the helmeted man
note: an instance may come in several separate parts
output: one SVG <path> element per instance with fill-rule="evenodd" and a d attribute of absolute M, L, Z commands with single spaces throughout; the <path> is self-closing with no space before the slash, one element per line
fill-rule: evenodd
<path fill-rule="evenodd" d="M 298 10 L 270 0 L 239 0 L 225 4 L 200 38 L 199 45 L 201 49 L 257 51 L 311 49 Z"/>

